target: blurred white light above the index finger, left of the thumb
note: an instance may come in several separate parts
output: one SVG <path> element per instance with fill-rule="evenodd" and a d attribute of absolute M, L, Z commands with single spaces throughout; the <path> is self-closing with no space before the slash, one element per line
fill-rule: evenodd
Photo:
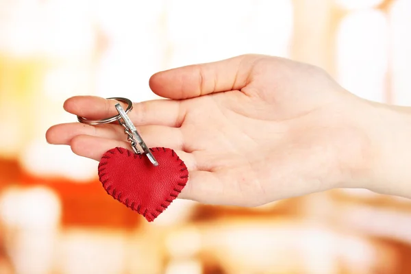
<path fill-rule="evenodd" d="M 166 52 L 162 2 L 99 1 L 96 16 L 106 45 L 97 62 L 97 95 L 134 101 L 158 98 L 149 89 L 149 77 L 162 69 Z"/>

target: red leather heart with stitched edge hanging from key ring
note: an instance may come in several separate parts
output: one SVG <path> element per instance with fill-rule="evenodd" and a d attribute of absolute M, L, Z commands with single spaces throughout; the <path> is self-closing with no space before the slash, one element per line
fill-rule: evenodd
<path fill-rule="evenodd" d="M 103 188 L 147 221 L 154 221 L 177 198 L 188 180 L 186 164 L 173 149 L 151 148 L 158 162 L 116 147 L 104 153 L 99 164 Z"/>

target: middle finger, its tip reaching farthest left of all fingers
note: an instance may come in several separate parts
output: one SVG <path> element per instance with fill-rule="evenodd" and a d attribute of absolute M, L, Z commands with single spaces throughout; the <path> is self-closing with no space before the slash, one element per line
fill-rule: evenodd
<path fill-rule="evenodd" d="M 183 147 L 183 136 L 179 128 L 142 125 L 137 130 L 148 147 L 169 147 L 171 149 L 182 149 Z M 82 123 L 54 125 L 47 130 L 46 139 L 53 145 L 69 145 L 71 140 L 79 135 L 127 141 L 127 135 L 123 127 L 119 125 L 95 126 Z"/>

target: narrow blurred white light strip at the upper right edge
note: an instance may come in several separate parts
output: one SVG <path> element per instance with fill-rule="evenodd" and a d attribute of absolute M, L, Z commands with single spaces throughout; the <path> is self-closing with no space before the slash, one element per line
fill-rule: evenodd
<path fill-rule="evenodd" d="M 394 1 L 390 10 L 393 56 L 393 103 L 411 105 L 411 1 Z"/>

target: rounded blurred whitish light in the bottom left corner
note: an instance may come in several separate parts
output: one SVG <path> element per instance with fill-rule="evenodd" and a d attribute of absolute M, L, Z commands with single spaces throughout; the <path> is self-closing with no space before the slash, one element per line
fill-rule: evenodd
<path fill-rule="evenodd" d="M 60 214 L 60 201 L 48 188 L 5 190 L 0 197 L 0 216 L 16 273 L 50 273 Z"/>

